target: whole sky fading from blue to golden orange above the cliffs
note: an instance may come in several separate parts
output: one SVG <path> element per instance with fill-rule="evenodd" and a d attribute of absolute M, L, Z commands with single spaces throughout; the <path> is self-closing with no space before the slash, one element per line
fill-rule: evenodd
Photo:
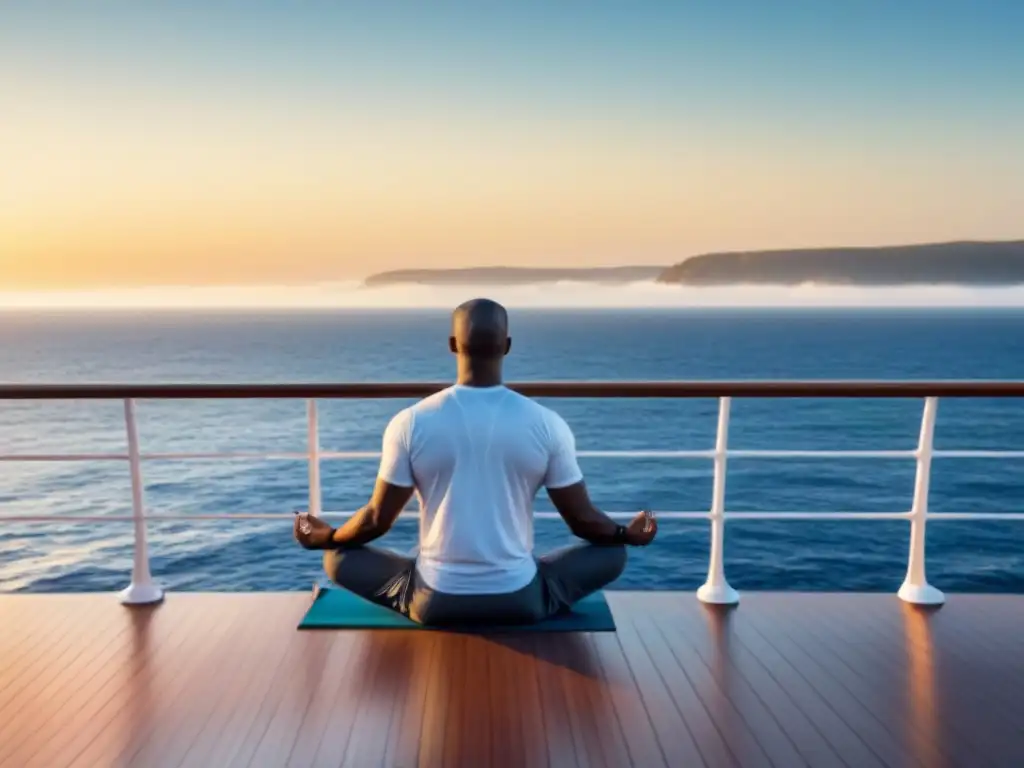
<path fill-rule="evenodd" d="M 1022 39 L 1018 0 L 3 3 L 0 291 L 1019 239 Z"/>

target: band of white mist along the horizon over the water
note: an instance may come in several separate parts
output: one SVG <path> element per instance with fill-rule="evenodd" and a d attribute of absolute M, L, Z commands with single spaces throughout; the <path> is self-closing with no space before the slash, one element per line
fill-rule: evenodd
<path fill-rule="evenodd" d="M 880 288 L 805 283 L 689 287 L 653 282 L 620 285 L 566 282 L 368 288 L 351 281 L 297 286 L 0 292 L 0 309 L 427 309 L 447 308 L 474 296 L 488 296 L 517 308 L 1024 307 L 1024 286 L 1020 285 Z"/>

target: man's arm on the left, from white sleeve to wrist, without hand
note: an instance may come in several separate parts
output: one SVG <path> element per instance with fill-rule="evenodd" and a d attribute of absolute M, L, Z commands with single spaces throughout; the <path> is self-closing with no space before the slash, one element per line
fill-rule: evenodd
<path fill-rule="evenodd" d="M 384 430 L 381 465 L 370 503 L 334 531 L 336 547 L 358 547 L 384 536 L 413 498 L 413 414 L 406 410 Z"/>

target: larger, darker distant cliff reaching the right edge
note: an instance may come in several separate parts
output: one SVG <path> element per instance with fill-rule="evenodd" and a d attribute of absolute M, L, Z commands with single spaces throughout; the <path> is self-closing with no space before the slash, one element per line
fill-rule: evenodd
<path fill-rule="evenodd" d="M 710 253 L 669 267 L 657 282 L 1004 286 L 1024 283 L 1024 241 Z"/>

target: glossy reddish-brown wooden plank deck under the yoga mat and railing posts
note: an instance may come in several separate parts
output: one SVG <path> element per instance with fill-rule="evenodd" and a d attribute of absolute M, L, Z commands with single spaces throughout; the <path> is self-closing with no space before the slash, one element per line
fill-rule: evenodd
<path fill-rule="evenodd" d="M 1024 766 L 1024 596 L 617 592 L 617 633 L 507 638 L 308 600 L 0 597 L 0 765 Z"/>

